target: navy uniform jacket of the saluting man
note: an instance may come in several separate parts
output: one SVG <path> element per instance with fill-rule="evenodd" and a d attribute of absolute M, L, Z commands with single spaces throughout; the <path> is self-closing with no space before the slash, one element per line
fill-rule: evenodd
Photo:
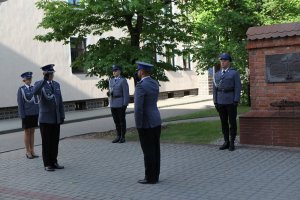
<path fill-rule="evenodd" d="M 60 124 L 65 119 L 63 99 L 60 85 L 52 80 L 53 91 L 46 80 L 37 81 L 33 93 L 40 96 L 39 122 L 47 124 Z"/>

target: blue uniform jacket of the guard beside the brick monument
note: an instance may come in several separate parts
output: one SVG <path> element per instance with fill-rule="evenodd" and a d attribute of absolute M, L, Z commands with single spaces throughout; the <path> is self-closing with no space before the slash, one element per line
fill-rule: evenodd
<path fill-rule="evenodd" d="M 241 79 L 240 74 L 229 68 L 224 75 L 222 70 L 215 74 L 213 86 L 213 99 L 217 104 L 232 104 L 240 101 L 241 96 Z"/>

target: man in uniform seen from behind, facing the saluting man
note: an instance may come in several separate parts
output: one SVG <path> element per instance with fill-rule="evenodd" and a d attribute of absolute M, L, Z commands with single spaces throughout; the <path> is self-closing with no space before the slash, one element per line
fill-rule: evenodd
<path fill-rule="evenodd" d="M 134 93 L 134 118 L 144 154 L 145 178 L 141 184 L 156 184 L 160 174 L 161 118 L 157 107 L 159 84 L 150 77 L 153 65 L 137 62 L 138 78 Z"/>

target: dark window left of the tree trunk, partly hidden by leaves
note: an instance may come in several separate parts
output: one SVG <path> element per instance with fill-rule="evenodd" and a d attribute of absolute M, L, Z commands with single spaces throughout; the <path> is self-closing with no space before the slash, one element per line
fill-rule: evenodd
<path fill-rule="evenodd" d="M 71 47 L 71 62 L 73 63 L 81 54 L 86 51 L 86 38 L 70 38 Z M 72 73 L 85 73 L 86 70 L 83 67 L 72 67 Z"/>

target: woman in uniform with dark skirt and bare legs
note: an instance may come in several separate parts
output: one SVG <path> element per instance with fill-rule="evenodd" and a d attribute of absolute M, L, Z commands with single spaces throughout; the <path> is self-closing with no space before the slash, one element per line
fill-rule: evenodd
<path fill-rule="evenodd" d="M 24 143 L 26 157 L 28 159 L 38 158 L 34 152 L 34 131 L 38 127 L 39 99 L 33 95 L 31 85 L 32 72 L 21 74 L 24 85 L 18 89 L 17 102 L 19 116 L 22 119 L 22 128 L 24 129 Z"/>

